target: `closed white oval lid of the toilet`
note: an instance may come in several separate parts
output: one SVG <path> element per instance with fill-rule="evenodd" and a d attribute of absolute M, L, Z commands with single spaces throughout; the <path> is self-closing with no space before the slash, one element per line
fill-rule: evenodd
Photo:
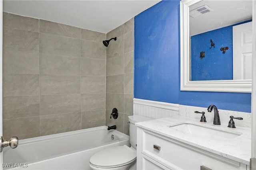
<path fill-rule="evenodd" d="M 90 164 L 96 167 L 114 168 L 124 166 L 136 159 L 136 151 L 128 146 L 111 147 L 101 150 L 90 158 Z"/>

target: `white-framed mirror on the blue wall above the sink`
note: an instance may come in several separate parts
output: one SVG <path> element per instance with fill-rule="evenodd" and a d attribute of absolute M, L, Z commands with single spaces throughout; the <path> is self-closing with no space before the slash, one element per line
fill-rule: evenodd
<path fill-rule="evenodd" d="M 236 25 L 254 22 L 252 0 L 227 0 L 232 4 L 230 6 L 217 4 L 223 4 L 224 1 L 182 0 L 180 2 L 180 89 L 183 91 L 252 91 L 252 58 L 249 53 L 245 53 L 250 56 L 245 59 L 246 56 L 242 55 L 243 59 L 240 57 L 238 62 L 233 61 L 236 58 L 233 57 L 233 53 L 237 54 L 238 48 L 233 48 L 235 34 L 232 31 Z M 237 4 L 236 7 L 234 2 L 246 2 L 246 4 Z M 237 11 L 234 12 L 234 9 Z M 229 10 L 233 10 L 234 13 Z M 226 28 L 231 29 L 231 35 L 226 32 L 216 34 L 216 30 Z M 202 37 L 205 35 L 206 37 Z M 251 39 L 252 32 L 244 36 Z M 227 39 L 231 42 L 226 41 Z M 250 46 L 252 50 L 252 45 Z M 224 47 L 229 48 L 221 51 Z M 201 52 L 204 52 L 204 55 L 201 55 Z M 230 63 L 226 64 L 227 61 Z M 240 68 L 241 66 L 243 68 Z"/>

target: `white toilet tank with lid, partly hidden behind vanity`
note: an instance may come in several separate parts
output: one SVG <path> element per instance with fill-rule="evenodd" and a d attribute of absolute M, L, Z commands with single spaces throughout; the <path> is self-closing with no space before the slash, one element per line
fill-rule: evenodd
<path fill-rule="evenodd" d="M 136 149 L 137 148 L 137 146 L 136 146 L 136 144 L 137 144 L 137 127 L 136 127 L 135 123 L 142 122 L 142 121 L 148 121 L 148 120 L 152 120 L 152 119 L 149 117 L 141 116 L 141 115 L 128 116 L 128 118 L 129 118 L 129 122 L 130 122 L 130 128 L 129 128 L 130 144 L 132 147 L 134 147 Z"/>

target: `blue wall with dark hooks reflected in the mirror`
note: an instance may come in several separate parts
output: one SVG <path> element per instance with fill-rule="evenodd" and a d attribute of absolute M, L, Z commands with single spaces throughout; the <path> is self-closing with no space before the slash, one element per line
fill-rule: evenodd
<path fill-rule="evenodd" d="M 232 26 L 191 37 L 191 80 L 233 80 Z M 215 47 L 211 47 L 212 39 Z M 228 47 L 223 54 L 221 47 Z M 204 58 L 200 52 L 204 51 Z"/>

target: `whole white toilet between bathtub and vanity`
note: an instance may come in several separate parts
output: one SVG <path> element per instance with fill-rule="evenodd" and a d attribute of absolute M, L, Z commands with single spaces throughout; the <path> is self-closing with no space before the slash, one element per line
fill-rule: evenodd
<path fill-rule="evenodd" d="M 131 147 L 124 145 L 97 152 L 90 158 L 90 168 L 92 170 L 136 169 L 137 128 L 135 123 L 148 120 L 152 119 L 141 115 L 129 116 Z"/>

